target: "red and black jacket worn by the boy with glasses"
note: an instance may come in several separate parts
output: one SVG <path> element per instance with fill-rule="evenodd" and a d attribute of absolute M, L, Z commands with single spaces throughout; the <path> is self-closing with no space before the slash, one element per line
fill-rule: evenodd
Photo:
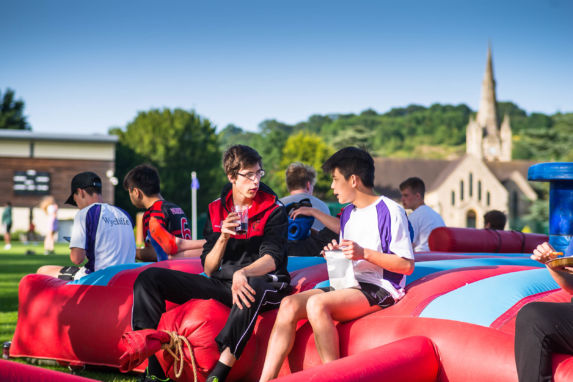
<path fill-rule="evenodd" d="M 228 183 L 223 187 L 221 197 L 209 204 L 209 214 L 203 231 L 203 237 L 207 241 L 201 254 L 203 266 L 205 257 L 211 252 L 221 235 L 223 220 L 232 210 L 232 186 Z M 270 274 L 277 276 L 280 281 L 290 282 L 286 254 L 287 229 L 288 219 L 285 208 L 280 204 L 273 190 L 261 183 L 253 204 L 249 208 L 247 233 L 235 235 L 229 239 L 221 268 L 211 277 L 231 280 L 235 271 L 250 265 L 264 255 L 270 255 L 276 266 Z"/>

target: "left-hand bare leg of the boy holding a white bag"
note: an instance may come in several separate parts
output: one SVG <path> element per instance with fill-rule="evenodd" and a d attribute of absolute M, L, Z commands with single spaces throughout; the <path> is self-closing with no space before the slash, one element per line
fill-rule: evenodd
<path fill-rule="evenodd" d="M 276 378 L 278 375 L 294 344 L 296 324 L 299 320 L 306 318 L 305 307 L 308 299 L 319 294 L 324 294 L 324 291 L 312 289 L 285 297 L 281 301 L 279 313 L 269 338 L 267 355 L 260 378 L 261 382 Z"/>

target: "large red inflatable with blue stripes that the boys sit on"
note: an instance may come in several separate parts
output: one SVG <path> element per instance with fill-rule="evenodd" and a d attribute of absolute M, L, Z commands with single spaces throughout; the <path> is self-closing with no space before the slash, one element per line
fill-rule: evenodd
<path fill-rule="evenodd" d="M 294 264 L 296 269 L 291 270 L 296 291 L 313 288 L 327 279 L 325 264 L 317 262 L 321 260 L 312 263 L 308 258 L 289 259 L 289 266 Z M 149 266 L 202 271 L 196 260 L 145 267 Z M 317 371 L 321 362 L 306 321 L 299 323 L 293 351 L 280 376 L 306 381 L 337 380 L 346 375 L 346 380 L 354 380 L 348 362 L 361 360 L 366 363 L 361 365 L 367 370 L 364 380 L 376 380 L 376 376 L 407 380 L 412 367 L 396 365 L 421 364 L 424 368 L 418 371 L 420 379 L 413 380 L 515 381 L 513 332 L 519 309 L 531 301 L 564 302 L 571 298 L 538 266 L 528 254 L 421 254 L 416 258 L 414 273 L 408 277 L 406 296 L 398 304 L 337 325 L 341 355 L 353 358 L 329 364 L 327 369 L 332 370 L 333 379 L 320 379 L 326 374 Z M 41 275 L 24 277 L 11 355 L 118 367 L 120 338 L 131 330 L 133 282 L 145 267 L 121 271 L 105 285 L 70 285 Z M 218 358 L 214 338 L 228 312 L 214 300 L 192 300 L 181 306 L 168 305 L 162 317 L 160 329 L 175 331 L 190 340 L 199 380 L 204 380 Z M 258 379 L 275 316 L 276 311 L 271 311 L 257 319 L 230 381 Z M 396 341 L 400 342 L 391 344 Z M 413 345 L 410 341 L 421 342 Z M 430 344 L 437 358 L 427 350 Z M 393 352 L 396 354 L 390 358 L 383 354 L 393 347 L 386 346 L 411 349 Z M 184 351 L 190 358 L 189 349 Z M 157 355 L 173 377 L 171 356 L 163 351 Z M 571 380 L 572 358 L 558 355 L 554 363 L 555 380 Z M 432 374 L 434 366 L 436 374 Z M 193 380 L 190 366 L 183 373 L 180 380 Z"/>

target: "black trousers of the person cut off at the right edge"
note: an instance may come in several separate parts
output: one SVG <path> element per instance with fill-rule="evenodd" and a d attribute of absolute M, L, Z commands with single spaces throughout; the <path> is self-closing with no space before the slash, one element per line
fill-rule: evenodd
<path fill-rule="evenodd" d="M 573 304 L 532 302 L 515 322 L 515 362 L 520 382 L 550 382 L 553 353 L 573 354 Z"/>

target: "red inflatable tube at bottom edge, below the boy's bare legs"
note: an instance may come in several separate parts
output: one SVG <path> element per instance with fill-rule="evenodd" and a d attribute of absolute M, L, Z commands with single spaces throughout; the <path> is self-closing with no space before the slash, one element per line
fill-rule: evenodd
<path fill-rule="evenodd" d="M 427 337 L 408 337 L 276 379 L 280 382 L 435 382 L 439 361 Z"/>

